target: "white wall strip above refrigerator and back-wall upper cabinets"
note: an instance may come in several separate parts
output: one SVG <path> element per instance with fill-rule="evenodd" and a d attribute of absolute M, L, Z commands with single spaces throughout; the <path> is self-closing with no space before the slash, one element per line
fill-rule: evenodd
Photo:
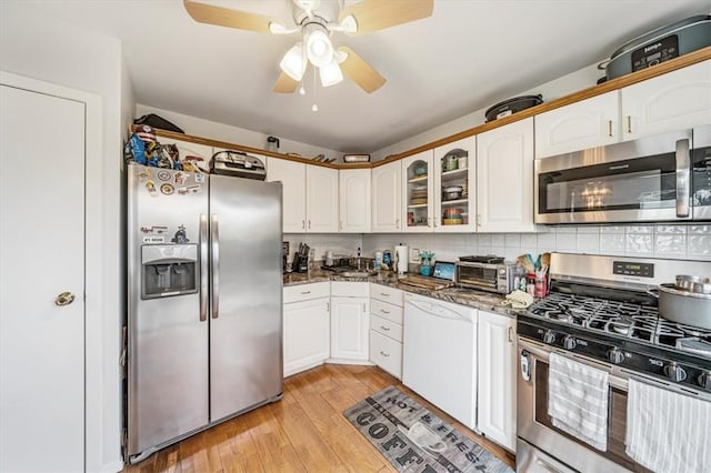
<path fill-rule="evenodd" d="M 194 137 L 227 141 L 228 143 L 243 144 L 246 147 L 259 149 L 264 149 L 267 144 L 268 135 L 258 131 L 246 130 L 243 128 L 203 120 L 197 117 L 184 115 L 182 113 L 157 109 L 154 107 L 143 105 L 140 103 L 136 104 L 137 118 L 148 113 L 156 113 L 182 129 L 187 134 L 192 134 Z M 313 158 L 317 154 L 326 153 L 329 158 L 339 157 L 339 161 L 342 160 L 342 153 L 339 151 L 324 150 L 320 147 L 288 140 L 286 138 L 279 138 L 279 152 L 281 153 L 299 153 L 303 158 Z"/>

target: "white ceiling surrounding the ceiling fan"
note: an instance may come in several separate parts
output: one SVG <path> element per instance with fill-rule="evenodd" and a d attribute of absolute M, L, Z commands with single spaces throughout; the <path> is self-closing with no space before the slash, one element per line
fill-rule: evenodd
<path fill-rule="evenodd" d="M 284 22 L 289 1 L 204 0 Z M 272 92 L 279 60 L 298 36 L 200 24 L 179 0 L 24 3 L 119 38 L 138 103 L 342 152 L 380 150 L 710 10 L 709 0 L 437 0 L 431 18 L 362 37 L 333 34 L 334 46 L 349 46 L 387 78 L 380 90 L 368 94 L 348 79 L 314 89 L 307 71 L 301 97 Z"/>

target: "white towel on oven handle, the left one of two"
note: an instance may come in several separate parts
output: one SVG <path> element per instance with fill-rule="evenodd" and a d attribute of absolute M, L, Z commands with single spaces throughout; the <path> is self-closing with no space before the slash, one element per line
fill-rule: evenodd
<path fill-rule="evenodd" d="M 555 427 L 601 452 L 608 450 L 608 372 L 551 353 L 548 414 Z"/>

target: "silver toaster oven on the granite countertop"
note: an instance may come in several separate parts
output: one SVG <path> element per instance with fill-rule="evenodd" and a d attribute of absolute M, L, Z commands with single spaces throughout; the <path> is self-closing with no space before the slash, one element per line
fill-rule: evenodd
<path fill-rule="evenodd" d="M 502 256 L 460 256 L 457 262 L 457 285 L 480 291 L 508 294 L 515 289 L 515 263 Z"/>

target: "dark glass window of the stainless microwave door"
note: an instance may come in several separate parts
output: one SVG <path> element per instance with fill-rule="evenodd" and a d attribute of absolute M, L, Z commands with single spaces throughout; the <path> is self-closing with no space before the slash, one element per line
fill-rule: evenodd
<path fill-rule="evenodd" d="M 674 153 L 538 175 L 539 213 L 667 209 L 677 203 Z"/>

